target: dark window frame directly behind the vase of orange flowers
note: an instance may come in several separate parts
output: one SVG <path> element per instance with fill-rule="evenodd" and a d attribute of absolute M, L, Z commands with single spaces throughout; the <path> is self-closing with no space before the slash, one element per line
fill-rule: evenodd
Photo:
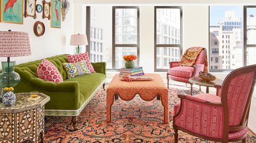
<path fill-rule="evenodd" d="M 116 9 L 137 9 L 137 44 L 115 44 L 115 10 Z M 112 69 L 115 68 L 115 48 L 116 47 L 136 47 L 137 62 L 139 65 L 139 6 L 113 6 L 112 7 Z"/>

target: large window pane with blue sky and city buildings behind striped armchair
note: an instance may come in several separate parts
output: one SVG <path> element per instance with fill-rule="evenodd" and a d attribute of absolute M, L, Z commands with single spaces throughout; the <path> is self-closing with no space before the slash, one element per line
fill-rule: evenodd
<path fill-rule="evenodd" d="M 215 61 L 210 61 L 209 66 L 217 66 L 218 70 L 230 70 L 243 66 L 242 60 L 242 28 L 236 28 L 234 23 L 242 23 L 242 6 L 210 6 L 209 7 L 209 41 L 217 39 L 221 44 L 215 42 L 209 44 L 209 50 L 215 55 L 211 57 L 222 57 Z M 211 33 L 219 31 L 218 36 L 212 36 Z M 226 49 L 225 51 L 222 49 Z M 219 50 L 222 52 L 218 52 Z M 230 58 L 234 57 L 234 58 Z M 220 62 L 219 62 L 220 61 Z M 219 63 L 216 65 L 216 63 Z M 233 66 L 232 66 L 233 65 Z"/>

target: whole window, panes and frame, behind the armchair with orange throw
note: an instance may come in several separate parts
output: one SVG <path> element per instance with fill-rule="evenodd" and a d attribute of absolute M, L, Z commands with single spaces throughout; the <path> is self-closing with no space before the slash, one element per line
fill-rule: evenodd
<path fill-rule="evenodd" d="M 155 6 L 155 71 L 167 71 L 170 68 L 170 61 L 180 60 L 182 53 L 181 11 L 181 7 Z"/>

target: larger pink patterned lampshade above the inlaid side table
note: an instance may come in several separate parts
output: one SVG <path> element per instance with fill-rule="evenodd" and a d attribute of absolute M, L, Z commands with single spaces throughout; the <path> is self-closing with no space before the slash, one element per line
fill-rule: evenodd
<path fill-rule="evenodd" d="M 0 31 L 0 57 L 29 55 L 31 55 L 31 50 L 28 33 Z"/>

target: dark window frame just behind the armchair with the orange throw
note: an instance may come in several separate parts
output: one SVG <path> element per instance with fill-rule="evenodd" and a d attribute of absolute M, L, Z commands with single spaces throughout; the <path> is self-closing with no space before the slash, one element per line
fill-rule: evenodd
<path fill-rule="evenodd" d="M 157 44 L 157 9 L 180 9 L 180 44 Z M 173 34 L 175 35 L 175 33 Z M 168 69 L 157 69 L 157 47 L 179 47 L 180 57 L 182 56 L 183 54 L 183 10 L 181 6 L 154 6 L 154 71 L 167 72 Z"/>

